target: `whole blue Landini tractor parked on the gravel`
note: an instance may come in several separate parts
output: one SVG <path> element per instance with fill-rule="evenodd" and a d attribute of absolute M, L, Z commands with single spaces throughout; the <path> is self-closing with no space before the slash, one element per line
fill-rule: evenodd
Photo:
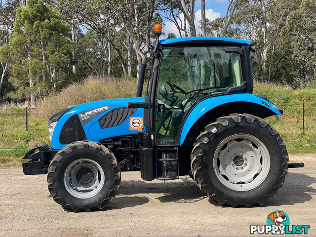
<path fill-rule="evenodd" d="M 151 51 L 140 53 L 136 97 L 51 116 L 51 148 L 29 151 L 24 174 L 47 174 L 53 199 L 75 212 L 104 208 L 118 192 L 121 171 L 133 170 L 144 180 L 189 175 L 220 205 L 263 205 L 283 185 L 289 158 L 264 120 L 283 112 L 267 96 L 252 94 L 256 43 L 158 40 L 159 25 L 155 34 Z"/>

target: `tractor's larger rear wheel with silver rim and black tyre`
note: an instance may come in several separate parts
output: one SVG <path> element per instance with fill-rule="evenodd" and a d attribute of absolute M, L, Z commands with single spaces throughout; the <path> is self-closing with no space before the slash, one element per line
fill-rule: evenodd
<path fill-rule="evenodd" d="M 268 122 L 232 114 L 209 124 L 191 154 L 194 179 L 220 205 L 263 205 L 283 185 L 286 146 Z"/>

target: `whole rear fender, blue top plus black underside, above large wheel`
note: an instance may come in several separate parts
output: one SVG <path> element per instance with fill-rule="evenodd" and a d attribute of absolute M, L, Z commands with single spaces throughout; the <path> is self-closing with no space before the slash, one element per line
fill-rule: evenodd
<path fill-rule="evenodd" d="M 278 110 L 272 102 L 248 93 L 207 98 L 198 103 L 186 118 L 180 135 L 180 146 L 193 145 L 198 134 L 207 124 L 216 118 L 235 113 L 267 118 L 280 116 L 282 111 Z"/>

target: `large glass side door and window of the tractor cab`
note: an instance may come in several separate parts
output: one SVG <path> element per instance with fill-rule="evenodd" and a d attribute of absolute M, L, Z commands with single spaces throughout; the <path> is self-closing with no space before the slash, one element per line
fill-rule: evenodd
<path fill-rule="evenodd" d="M 163 49 L 157 105 L 162 104 L 165 112 L 161 116 L 160 106 L 156 107 L 157 144 L 177 145 L 184 118 L 197 101 L 241 84 L 237 52 L 225 52 L 223 46 Z"/>

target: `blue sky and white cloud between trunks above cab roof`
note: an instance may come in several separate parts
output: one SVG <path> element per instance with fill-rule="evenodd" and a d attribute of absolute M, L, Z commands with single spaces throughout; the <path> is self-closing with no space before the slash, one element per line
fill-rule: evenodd
<path fill-rule="evenodd" d="M 228 6 L 228 0 L 205 0 L 206 18 L 208 18 L 209 20 L 214 20 L 218 17 L 225 16 L 227 6 Z M 201 1 L 200 0 L 196 0 L 194 9 L 196 12 L 195 14 L 196 31 L 197 31 L 197 34 L 199 34 L 201 32 L 201 29 L 199 28 L 200 26 L 199 21 L 201 20 Z M 182 16 L 182 19 L 183 19 L 183 16 Z M 160 37 L 161 39 L 167 38 L 169 33 L 174 33 L 176 37 L 180 37 L 179 32 L 173 22 L 165 18 L 163 18 L 163 22 L 165 23 L 165 26 L 163 27 L 162 31 L 164 32 L 165 35 L 161 36 Z"/>

